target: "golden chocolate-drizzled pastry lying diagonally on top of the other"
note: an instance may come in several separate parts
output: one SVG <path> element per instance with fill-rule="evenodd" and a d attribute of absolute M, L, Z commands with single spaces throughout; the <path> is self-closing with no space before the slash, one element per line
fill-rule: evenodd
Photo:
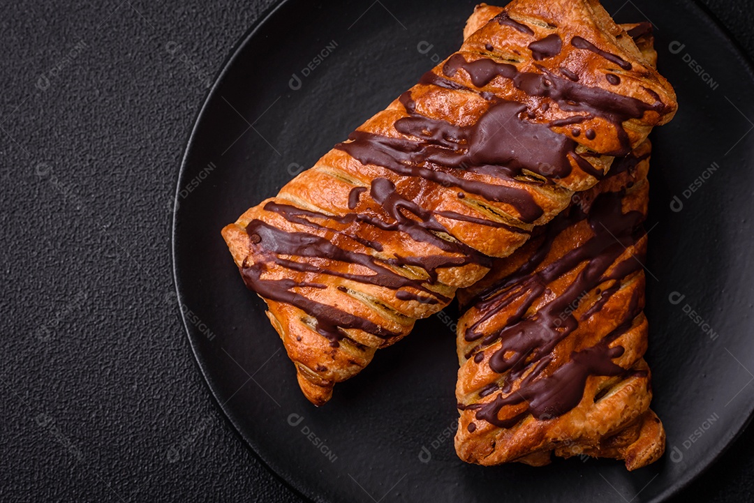
<path fill-rule="evenodd" d="M 222 234 L 323 404 L 676 106 L 599 3 L 517 0 Z"/>

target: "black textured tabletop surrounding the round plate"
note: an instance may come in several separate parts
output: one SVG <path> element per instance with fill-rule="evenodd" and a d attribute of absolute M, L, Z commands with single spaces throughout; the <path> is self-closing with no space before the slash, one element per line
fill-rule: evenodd
<path fill-rule="evenodd" d="M 708 3 L 754 55 L 749 2 Z M 270 4 L 5 6 L 3 501 L 298 501 L 217 411 L 170 264 L 206 81 Z M 674 501 L 752 500 L 752 447 L 749 427 Z"/>

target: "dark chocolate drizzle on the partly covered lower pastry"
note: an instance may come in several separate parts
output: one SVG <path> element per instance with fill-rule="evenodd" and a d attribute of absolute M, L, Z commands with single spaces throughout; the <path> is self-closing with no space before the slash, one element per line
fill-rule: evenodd
<path fill-rule="evenodd" d="M 616 172 L 611 172 L 611 175 L 632 169 L 641 158 L 631 156 L 627 159 L 629 160 L 617 163 Z M 550 223 L 541 237 L 537 251 L 529 261 L 516 273 L 480 294 L 474 301 L 477 310 L 484 313 L 464 334 L 464 338 L 469 342 L 480 341 L 473 350 L 476 353 L 474 362 L 481 364 L 483 361 L 483 358 L 477 358 L 483 354 L 480 348 L 499 341 L 501 347 L 495 349 L 487 364 L 495 373 L 505 374 L 500 393 L 495 400 L 465 407 L 477 410 L 477 419 L 500 428 L 510 428 L 528 414 L 540 419 L 560 416 L 572 410 L 581 401 L 588 376 L 618 376 L 630 373 L 630 370 L 624 370 L 611 361 L 621 356 L 624 349 L 620 346 L 610 347 L 610 344 L 631 328 L 633 320 L 641 312 L 643 306 L 639 301 L 639 290 L 633 291 L 630 306 L 624 312 L 624 318 L 618 324 L 618 328 L 596 346 L 574 352 L 566 364 L 562 364 L 552 373 L 545 373 L 552 361 L 553 349 L 558 343 L 578 328 L 579 321 L 589 319 L 602 309 L 609 298 L 619 291 L 624 278 L 641 269 L 641 264 L 633 256 L 616 264 L 626 249 L 635 245 L 644 236 L 644 216 L 641 212 L 634 211 L 624 214 L 623 196 L 622 191 L 599 194 L 593 201 L 589 215 L 585 215 L 580 206 L 572 206 L 569 211 Z M 556 236 L 584 219 L 587 220 L 593 237 L 562 258 L 538 270 L 549 255 Z M 583 269 L 566 291 L 541 305 L 535 314 L 528 314 L 534 303 L 541 302 L 542 296 L 547 294 L 546 285 L 571 271 L 578 270 L 582 264 Z M 611 270 L 609 275 L 608 270 Z M 601 291 L 599 299 L 581 315 L 580 320 L 577 320 L 574 312 L 588 292 L 595 291 L 606 281 L 615 281 L 615 284 Z M 480 331 L 485 322 L 501 309 L 506 309 L 514 303 L 516 309 L 504 328 L 491 334 Z M 516 392 L 511 393 L 513 383 L 522 377 L 523 380 Z M 490 390 L 496 390 L 497 386 L 494 383 L 494 386 L 483 388 L 480 398 L 490 395 Z M 498 414 L 506 406 L 514 406 L 508 414 L 513 416 L 500 419 Z"/>

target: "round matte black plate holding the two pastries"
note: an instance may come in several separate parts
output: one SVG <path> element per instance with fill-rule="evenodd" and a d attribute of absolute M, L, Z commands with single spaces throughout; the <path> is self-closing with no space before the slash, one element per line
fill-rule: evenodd
<path fill-rule="evenodd" d="M 199 114 L 178 185 L 175 274 L 196 358 L 253 450 L 314 501 L 660 501 L 719 456 L 754 404 L 754 77 L 697 5 L 605 5 L 620 22 L 654 23 L 680 102 L 653 136 L 648 360 L 668 437 L 667 455 L 648 468 L 460 462 L 452 309 L 316 409 L 220 237 L 457 49 L 476 2 L 289 0 L 244 38 Z"/>

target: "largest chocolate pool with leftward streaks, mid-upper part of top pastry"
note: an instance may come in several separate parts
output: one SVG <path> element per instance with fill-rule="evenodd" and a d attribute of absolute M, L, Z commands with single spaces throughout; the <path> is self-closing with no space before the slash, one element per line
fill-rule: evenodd
<path fill-rule="evenodd" d="M 520 213 L 521 220 L 532 223 L 542 215 L 542 209 L 528 191 L 458 176 L 466 170 L 513 181 L 524 169 L 544 178 L 568 176 L 572 157 L 578 157 L 575 142 L 546 125 L 521 120 L 523 111 L 526 105 L 498 100 L 468 127 L 412 115 L 397 120 L 395 129 L 416 140 L 357 131 L 349 136 L 351 142 L 336 148 L 365 165 L 382 166 L 399 175 L 419 176 L 486 200 L 508 203 Z M 531 155 L 535 151 L 536 158 Z"/>

